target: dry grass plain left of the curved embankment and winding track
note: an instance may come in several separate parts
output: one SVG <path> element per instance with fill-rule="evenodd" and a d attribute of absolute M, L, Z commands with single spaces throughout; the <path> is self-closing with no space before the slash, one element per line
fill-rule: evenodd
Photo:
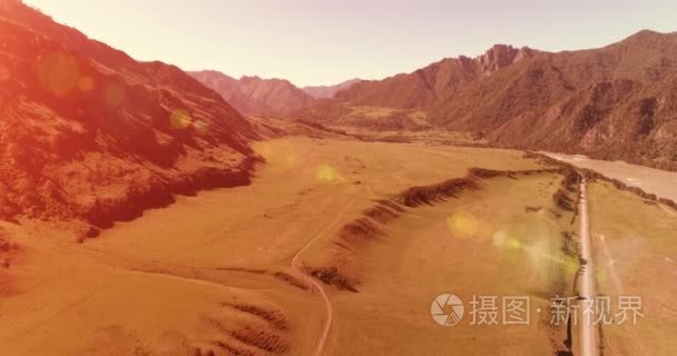
<path fill-rule="evenodd" d="M 324 312 L 290 277 L 290 260 L 337 211 L 343 222 L 373 199 L 470 167 L 537 168 L 518 151 L 308 138 L 257 150 L 267 164 L 253 185 L 178 197 L 84 244 L 65 226 L 3 224 L 21 246 L 1 278 L 3 355 L 307 354 Z"/>

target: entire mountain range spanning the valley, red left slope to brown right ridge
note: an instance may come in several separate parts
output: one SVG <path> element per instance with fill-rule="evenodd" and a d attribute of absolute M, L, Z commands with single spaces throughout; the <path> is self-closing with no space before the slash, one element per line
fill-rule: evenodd
<path fill-rule="evenodd" d="M 301 89 L 140 62 L 0 0 L 0 218 L 95 228 L 174 194 L 247 184 L 259 132 L 243 113 L 464 131 L 490 146 L 677 169 L 677 33 L 563 52 L 498 44 L 384 80 Z"/>

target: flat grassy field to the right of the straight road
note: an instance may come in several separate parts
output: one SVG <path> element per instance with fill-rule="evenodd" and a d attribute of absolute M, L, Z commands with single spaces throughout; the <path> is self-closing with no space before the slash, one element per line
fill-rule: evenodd
<path fill-rule="evenodd" d="M 606 182 L 590 185 L 589 201 L 598 290 L 611 297 L 612 314 L 618 296 L 641 297 L 645 315 L 635 326 L 602 327 L 605 355 L 674 355 L 677 211 Z"/>

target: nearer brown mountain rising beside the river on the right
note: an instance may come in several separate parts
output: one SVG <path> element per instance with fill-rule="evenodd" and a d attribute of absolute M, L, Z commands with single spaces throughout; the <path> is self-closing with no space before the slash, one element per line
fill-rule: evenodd
<path fill-rule="evenodd" d="M 436 125 L 499 146 L 608 159 L 677 160 L 677 33 L 540 52 L 435 102 Z"/>

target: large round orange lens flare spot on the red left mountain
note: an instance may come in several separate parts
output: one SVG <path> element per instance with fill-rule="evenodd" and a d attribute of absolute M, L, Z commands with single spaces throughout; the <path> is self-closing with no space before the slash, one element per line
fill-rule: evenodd
<path fill-rule="evenodd" d="M 52 53 L 38 62 L 38 80 L 42 89 L 56 97 L 69 95 L 78 85 L 80 68 L 75 57 Z"/>

